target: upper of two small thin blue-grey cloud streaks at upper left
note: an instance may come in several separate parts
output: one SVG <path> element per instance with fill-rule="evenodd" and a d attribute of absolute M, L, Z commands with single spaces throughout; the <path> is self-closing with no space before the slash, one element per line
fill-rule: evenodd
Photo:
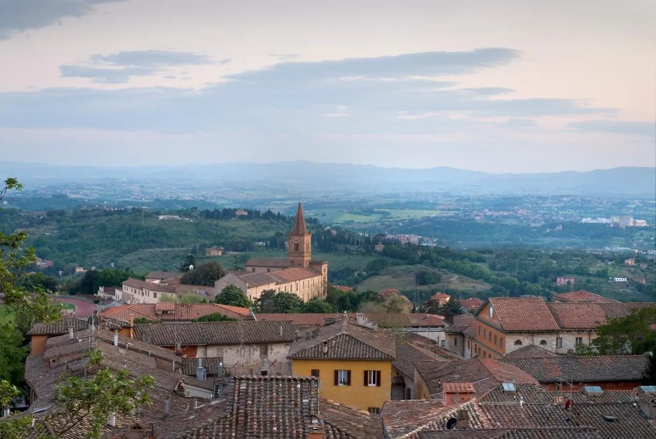
<path fill-rule="evenodd" d="M 209 56 L 174 50 L 127 50 L 109 55 L 94 54 L 89 60 L 98 64 L 122 67 L 172 67 L 213 63 Z"/>

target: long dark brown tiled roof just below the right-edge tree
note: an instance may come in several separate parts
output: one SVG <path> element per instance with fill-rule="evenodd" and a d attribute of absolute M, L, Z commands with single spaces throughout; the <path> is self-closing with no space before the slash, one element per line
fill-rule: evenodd
<path fill-rule="evenodd" d="M 647 368 L 644 355 L 551 356 L 548 358 L 501 358 L 540 383 L 592 383 L 641 381 Z"/>

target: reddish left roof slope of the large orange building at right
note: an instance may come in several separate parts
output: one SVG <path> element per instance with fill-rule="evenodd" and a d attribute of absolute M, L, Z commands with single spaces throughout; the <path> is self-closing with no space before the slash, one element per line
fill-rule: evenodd
<path fill-rule="evenodd" d="M 504 331 L 558 331 L 560 326 L 541 297 L 490 297 Z"/>

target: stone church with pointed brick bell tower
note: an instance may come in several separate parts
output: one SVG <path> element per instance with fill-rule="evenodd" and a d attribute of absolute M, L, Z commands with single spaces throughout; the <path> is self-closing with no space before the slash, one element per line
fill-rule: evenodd
<path fill-rule="evenodd" d="M 306 227 L 300 202 L 287 243 L 287 259 L 249 259 L 245 270 L 229 271 L 215 282 L 216 294 L 234 285 L 249 300 L 258 299 L 265 290 L 294 293 L 303 301 L 325 297 L 328 263 L 312 260 L 312 233 Z"/>

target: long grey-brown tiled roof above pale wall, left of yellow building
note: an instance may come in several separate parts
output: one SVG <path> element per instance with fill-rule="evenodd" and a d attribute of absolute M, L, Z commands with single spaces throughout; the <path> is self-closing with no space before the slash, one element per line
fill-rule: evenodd
<path fill-rule="evenodd" d="M 289 343 L 296 337 L 289 322 L 179 322 L 134 325 L 135 337 L 157 346 Z"/>

